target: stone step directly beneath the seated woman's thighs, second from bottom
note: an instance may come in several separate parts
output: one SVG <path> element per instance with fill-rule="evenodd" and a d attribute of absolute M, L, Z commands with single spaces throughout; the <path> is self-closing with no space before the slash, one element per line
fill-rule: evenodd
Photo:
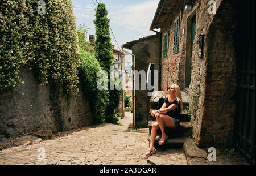
<path fill-rule="evenodd" d="M 148 121 L 148 132 L 151 134 L 152 124 L 156 121 Z M 165 127 L 164 131 L 168 138 L 176 138 L 179 136 L 191 136 L 192 134 L 192 125 L 189 122 L 180 122 L 180 125 L 177 128 Z M 161 135 L 161 130 L 157 131 L 157 134 Z"/>

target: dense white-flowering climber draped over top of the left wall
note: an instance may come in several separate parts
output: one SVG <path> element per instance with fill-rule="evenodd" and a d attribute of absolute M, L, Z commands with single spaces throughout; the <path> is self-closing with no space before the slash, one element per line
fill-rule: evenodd
<path fill-rule="evenodd" d="M 20 66 L 27 66 L 39 84 L 57 81 L 67 92 L 77 91 L 79 45 L 72 2 L 0 0 L 0 90 L 21 83 Z"/>

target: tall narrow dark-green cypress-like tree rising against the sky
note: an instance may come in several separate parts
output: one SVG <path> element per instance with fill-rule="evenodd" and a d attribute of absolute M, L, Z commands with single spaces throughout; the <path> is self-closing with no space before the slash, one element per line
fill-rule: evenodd
<path fill-rule="evenodd" d="M 110 75 L 110 66 L 113 66 L 114 56 L 112 43 L 109 32 L 109 22 L 107 17 L 108 10 L 104 3 L 98 3 L 96 8 L 96 19 L 93 21 L 96 27 L 96 40 L 95 40 L 95 57 L 100 62 L 101 68 L 108 72 Z M 122 91 L 110 90 L 109 91 L 109 105 L 106 108 L 106 122 L 117 123 L 118 118 L 115 115 L 114 109 L 119 106 Z"/>

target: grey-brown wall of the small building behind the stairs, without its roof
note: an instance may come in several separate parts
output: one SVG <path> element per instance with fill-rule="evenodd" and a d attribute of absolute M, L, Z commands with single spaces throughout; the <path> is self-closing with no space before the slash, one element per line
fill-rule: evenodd
<path fill-rule="evenodd" d="M 137 44 L 133 45 L 135 70 L 144 70 L 147 72 L 150 63 L 159 63 L 159 44 L 160 37 L 159 35 L 155 35 L 148 39 L 138 41 Z M 158 64 L 155 65 L 155 70 L 159 70 Z M 146 83 L 146 78 L 143 81 Z M 141 82 L 141 76 L 139 76 L 139 90 L 135 91 L 135 127 L 147 127 L 147 100 L 149 101 L 150 97 L 147 97 L 146 90 L 142 90 Z M 135 88 L 134 85 L 133 88 Z"/>

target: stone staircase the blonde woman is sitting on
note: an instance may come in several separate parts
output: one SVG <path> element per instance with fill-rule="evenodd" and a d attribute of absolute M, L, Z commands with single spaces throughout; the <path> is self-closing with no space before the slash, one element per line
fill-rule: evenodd
<path fill-rule="evenodd" d="M 180 114 L 180 125 L 179 127 L 175 128 L 164 128 L 166 135 L 168 136 L 168 140 L 166 143 L 164 143 L 163 146 L 159 146 L 158 142 L 161 138 L 161 131 L 160 129 L 157 131 L 156 139 L 155 139 L 155 148 L 164 147 L 164 148 L 182 148 L 183 143 L 185 140 L 187 140 L 191 134 L 192 134 L 192 125 L 190 124 L 190 117 L 188 114 L 185 113 L 184 109 L 189 106 L 188 96 L 185 92 L 181 91 L 182 94 L 182 101 L 183 101 L 183 112 Z M 151 112 L 156 110 L 158 105 L 158 99 L 157 97 L 162 97 L 163 95 L 166 95 L 168 97 L 168 91 L 154 91 L 152 93 L 152 96 L 150 98 L 149 102 L 149 112 L 148 112 L 148 128 L 149 128 L 149 134 L 148 134 L 148 141 L 150 143 L 150 134 L 151 134 L 151 128 L 152 124 L 156 122 L 155 117 L 151 116 Z M 156 98 L 155 98 L 156 97 Z"/>

